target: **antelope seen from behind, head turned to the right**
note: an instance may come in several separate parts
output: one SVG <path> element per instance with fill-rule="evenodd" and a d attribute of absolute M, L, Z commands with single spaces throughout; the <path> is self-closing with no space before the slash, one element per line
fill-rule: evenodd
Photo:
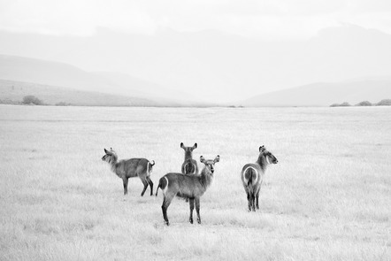
<path fill-rule="evenodd" d="M 259 156 L 256 163 L 249 163 L 242 168 L 242 183 L 249 201 L 249 211 L 259 210 L 259 191 L 261 189 L 267 165 L 277 164 L 279 161 L 265 146 L 259 147 Z M 257 200 L 257 205 L 256 205 Z"/>

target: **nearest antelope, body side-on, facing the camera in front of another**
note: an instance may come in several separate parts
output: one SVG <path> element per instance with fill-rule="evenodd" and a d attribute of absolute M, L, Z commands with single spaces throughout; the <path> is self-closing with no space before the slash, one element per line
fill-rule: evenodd
<path fill-rule="evenodd" d="M 193 210 L 196 203 L 197 222 L 201 224 L 200 217 L 200 197 L 203 196 L 206 189 L 211 186 L 213 180 L 214 165 L 219 162 L 219 155 L 215 159 L 205 159 L 200 157 L 200 162 L 204 164 L 201 174 L 185 175 L 183 173 L 167 173 L 159 180 L 157 191 L 159 188 L 163 191 L 163 219 L 165 225 L 169 226 L 170 222 L 167 218 L 167 208 L 173 201 L 174 196 L 184 197 L 189 199 L 190 203 L 190 218 L 189 221 L 193 224 Z M 157 196 L 157 192 L 156 192 Z"/>

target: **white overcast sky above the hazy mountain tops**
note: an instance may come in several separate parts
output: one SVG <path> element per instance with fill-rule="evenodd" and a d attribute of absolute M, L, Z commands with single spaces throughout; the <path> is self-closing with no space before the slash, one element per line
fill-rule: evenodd
<path fill-rule="evenodd" d="M 93 35 L 97 27 L 145 35 L 217 29 L 272 41 L 344 23 L 391 34 L 391 1 L 0 0 L 1 30 L 49 35 Z"/>

